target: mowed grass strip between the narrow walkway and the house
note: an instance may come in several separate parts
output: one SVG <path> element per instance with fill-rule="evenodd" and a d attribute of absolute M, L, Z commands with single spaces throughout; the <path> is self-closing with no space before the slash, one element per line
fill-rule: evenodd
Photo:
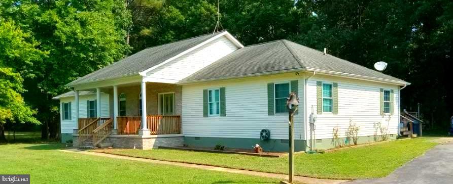
<path fill-rule="evenodd" d="M 437 143 L 434 138 L 407 139 L 329 152 L 295 156 L 295 174 L 300 176 L 358 179 L 384 177 Z M 106 153 L 206 164 L 272 173 L 288 173 L 288 157 L 266 158 L 238 154 L 205 153 L 182 150 L 98 150 Z"/>

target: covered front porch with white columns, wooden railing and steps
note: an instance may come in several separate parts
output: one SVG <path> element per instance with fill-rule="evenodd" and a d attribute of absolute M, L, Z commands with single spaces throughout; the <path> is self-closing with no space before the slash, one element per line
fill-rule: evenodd
<path fill-rule="evenodd" d="M 76 114 L 78 129 L 73 135 L 73 141 L 77 139 L 76 145 L 97 147 L 101 143 L 115 142 L 114 147 L 146 149 L 156 147 L 148 144 L 150 140 L 146 139 L 181 137 L 178 139 L 183 140 L 180 86 L 132 82 L 91 90 L 96 91 L 96 100 L 86 102 L 87 116 L 80 117 Z M 101 93 L 109 95 L 108 103 L 101 102 Z M 76 102 L 79 102 L 77 90 L 75 94 Z M 76 104 L 77 107 L 80 107 L 79 104 Z M 109 113 L 106 113 L 107 110 Z M 76 112 L 79 112 L 79 109 L 76 109 Z M 110 114 L 110 117 L 105 117 L 105 114 Z M 178 142 L 181 142 L 178 145 L 183 144 L 183 141 Z"/>

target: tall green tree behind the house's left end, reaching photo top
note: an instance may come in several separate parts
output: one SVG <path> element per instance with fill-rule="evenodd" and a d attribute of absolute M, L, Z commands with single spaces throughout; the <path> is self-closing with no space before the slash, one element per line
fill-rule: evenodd
<path fill-rule="evenodd" d="M 58 137 L 58 102 L 52 97 L 66 91 L 65 84 L 122 59 L 128 13 L 123 1 L 5 1 L 2 17 L 14 20 L 40 43 L 48 58 L 24 75 L 24 94 L 43 122 L 42 138 Z M 1 10 L 1 9 L 0 9 Z"/>

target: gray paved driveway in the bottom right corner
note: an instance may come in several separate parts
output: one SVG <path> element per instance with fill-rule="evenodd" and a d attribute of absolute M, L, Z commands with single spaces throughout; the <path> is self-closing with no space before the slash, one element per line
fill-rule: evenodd
<path fill-rule="evenodd" d="M 347 183 L 451 184 L 453 183 L 453 142 L 450 142 L 452 139 L 443 137 L 436 141 L 441 144 L 398 168 L 387 177 L 359 179 Z"/>

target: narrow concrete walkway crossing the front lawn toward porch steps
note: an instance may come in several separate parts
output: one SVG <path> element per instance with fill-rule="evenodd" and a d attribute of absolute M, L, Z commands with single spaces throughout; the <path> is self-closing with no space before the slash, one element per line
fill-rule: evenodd
<path fill-rule="evenodd" d="M 170 161 L 152 160 L 152 159 L 144 159 L 144 158 L 135 158 L 135 157 L 111 155 L 111 154 L 106 154 L 106 153 L 81 151 L 78 149 L 66 149 L 66 150 L 61 150 L 61 151 L 80 153 L 80 154 L 85 154 L 85 155 L 95 155 L 95 156 L 101 156 L 101 157 L 116 158 L 116 159 L 148 162 L 148 163 L 153 163 L 153 164 L 166 164 L 166 165 L 175 165 L 175 166 L 180 166 L 180 167 L 189 167 L 189 168 L 214 170 L 214 171 L 221 171 L 221 172 L 247 174 L 247 175 L 260 176 L 260 177 L 288 179 L 288 175 L 285 175 L 285 174 L 274 174 L 274 173 L 248 171 L 248 170 L 241 170 L 241 169 L 229 169 L 229 168 L 215 167 L 215 166 L 206 166 L 206 165 L 187 164 L 187 163 L 180 163 L 180 162 L 170 162 Z M 342 183 L 342 182 L 347 181 L 347 180 L 339 180 L 339 179 L 318 179 L 318 178 L 302 177 L 302 176 L 294 176 L 293 179 L 296 182 L 307 183 L 307 184 L 311 184 L 311 183 L 313 183 L 313 184 L 336 184 L 336 183 Z"/>

